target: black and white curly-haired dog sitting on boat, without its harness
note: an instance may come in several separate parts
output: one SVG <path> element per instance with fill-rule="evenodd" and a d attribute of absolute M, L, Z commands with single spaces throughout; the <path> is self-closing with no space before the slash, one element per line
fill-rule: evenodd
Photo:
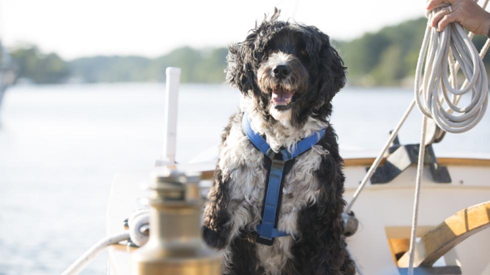
<path fill-rule="evenodd" d="M 225 274 L 354 274 L 341 217 L 343 160 L 329 123 L 346 67 L 328 35 L 280 21 L 279 12 L 229 46 L 227 80 L 243 96 L 222 134 L 204 239 L 222 251 Z M 271 159 L 248 138 L 244 114 L 276 153 L 291 152 L 297 142 L 325 129 L 316 144 L 284 167 L 274 225 L 287 235 L 269 242 L 258 241 L 257 230 Z"/>

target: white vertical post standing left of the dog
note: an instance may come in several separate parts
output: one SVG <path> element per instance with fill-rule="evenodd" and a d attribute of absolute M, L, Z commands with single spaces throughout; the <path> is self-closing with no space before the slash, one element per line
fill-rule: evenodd
<path fill-rule="evenodd" d="M 168 67 L 165 80 L 165 124 L 163 127 L 163 155 L 158 165 L 175 164 L 177 145 L 177 102 L 180 81 L 180 68 Z"/>

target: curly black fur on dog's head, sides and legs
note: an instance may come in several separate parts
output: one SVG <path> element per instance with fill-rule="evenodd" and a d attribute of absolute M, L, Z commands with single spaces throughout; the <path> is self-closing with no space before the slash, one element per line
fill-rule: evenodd
<path fill-rule="evenodd" d="M 314 26 L 279 21 L 278 16 L 279 11 L 275 10 L 274 15 L 256 26 L 243 42 L 229 46 L 227 80 L 244 97 L 253 98 L 255 109 L 267 127 L 279 127 L 278 119 L 271 114 L 274 108 L 278 112 L 290 110 L 289 121 L 294 129 L 302 129 L 311 119 L 325 122 L 326 133 L 318 145 L 329 153 L 318 156 L 321 157 L 320 164 L 313 171 L 319 182 L 317 198 L 299 211 L 297 233 L 290 246 L 292 256 L 276 273 L 354 274 L 354 264 L 346 252 L 341 217 L 345 206 L 342 198 L 343 159 L 335 131 L 328 123 L 332 112 L 331 99 L 345 85 L 346 67 L 330 44 L 328 35 Z M 275 60 L 278 54 L 286 56 L 283 61 L 291 67 L 293 76 L 289 82 L 271 78 L 274 77 L 272 70 L 275 64 L 271 60 Z M 276 85 L 294 89 L 287 106 L 272 105 L 271 93 Z M 232 127 L 241 125 L 242 115 L 243 110 L 231 118 L 222 134 L 221 148 L 230 138 Z M 231 232 L 234 213 L 230 209 L 241 203 L 232 198 L 233 188 L 236 187 L 230 173 L 223 172 L 218 162 L 205 210 L 204 239 L 213 247 L 227 249 L 227 274 L 268 273 L 257 254 L 257 247 L 262 244 L 255 243 L 251 237 L 254 226 L 245 224 L 237 229 L 237 233 Z M 242 209 L 252 212 L 250 205 Z"/>

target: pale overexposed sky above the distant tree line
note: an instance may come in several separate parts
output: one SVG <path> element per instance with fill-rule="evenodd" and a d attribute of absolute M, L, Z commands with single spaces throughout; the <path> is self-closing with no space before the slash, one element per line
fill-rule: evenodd
<path fill-rule="evenodd" d="M 425 0 L 0 0 L 0 37 L 64 58 L 96 54 L 157 56 L 182 45 L 243 40 L 274 6 L 282 19 L 350 39 L 424 14 Z"/>

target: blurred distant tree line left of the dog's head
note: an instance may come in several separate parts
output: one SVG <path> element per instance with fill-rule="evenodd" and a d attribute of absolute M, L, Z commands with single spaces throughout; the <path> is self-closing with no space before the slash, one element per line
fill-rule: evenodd
<path fill-rule="evenodd" d="M 35 83 L 164 81 L 168 66 L 182 68 L 182 82 L 213 83 L 224 81 L 227 49 L 180 47 L 156 58 L 113 55 L 66 61 L 29 45 L 14 48 L 11 54 L 19 77 Z"/>

